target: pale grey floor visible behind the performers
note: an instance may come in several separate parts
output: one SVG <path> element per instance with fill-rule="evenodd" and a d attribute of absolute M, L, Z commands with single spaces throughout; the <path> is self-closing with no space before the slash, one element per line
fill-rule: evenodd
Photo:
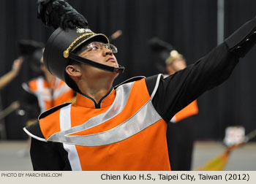
<path fill-rule="evenodd" d="M 31 171 L 28 145 L 24 141 L 0 142 L 1 171 Z M 195 142 L 192 169 L 205 164 L 225 150 L 220 142 Z M 247 143 L 230 154 L 225 170 L 256 171 L 256 143 Z"/>

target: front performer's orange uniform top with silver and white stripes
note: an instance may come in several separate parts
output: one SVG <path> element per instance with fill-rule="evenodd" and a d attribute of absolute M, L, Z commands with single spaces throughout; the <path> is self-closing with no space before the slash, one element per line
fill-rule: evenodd
<path fill-rule="evenodd" d="M 78 94 L 75 104 L 39 117 L 42 138 L 29 134 L 62 142 L 72 170 L 170 170 L 167 123 L 151 98 L 145 79 L 113 89 L 100 108 Z"/>

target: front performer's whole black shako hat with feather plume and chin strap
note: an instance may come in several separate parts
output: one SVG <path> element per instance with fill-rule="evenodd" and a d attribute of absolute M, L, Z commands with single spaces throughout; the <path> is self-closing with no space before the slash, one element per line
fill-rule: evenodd
<path fill-rule="evenodd" d="M 86 18 L 80 15 L 64 0 L 39 0 L 38 17 L 46 26 L 53 26 L 56 31 L 48 39 L 43 54 L 46 68 L 51 74 L 64 80 L 70 88 L 79 92 L 78 87 L 66 73 L 70 59 L 83 62 L 108 72 L 121 73 L 123 66 L 113 67 L 90 61 L 75 54 L 75 50 L 89 41 L 109 43 L 105 34 L 96 34 L 89 29 Z"/>

